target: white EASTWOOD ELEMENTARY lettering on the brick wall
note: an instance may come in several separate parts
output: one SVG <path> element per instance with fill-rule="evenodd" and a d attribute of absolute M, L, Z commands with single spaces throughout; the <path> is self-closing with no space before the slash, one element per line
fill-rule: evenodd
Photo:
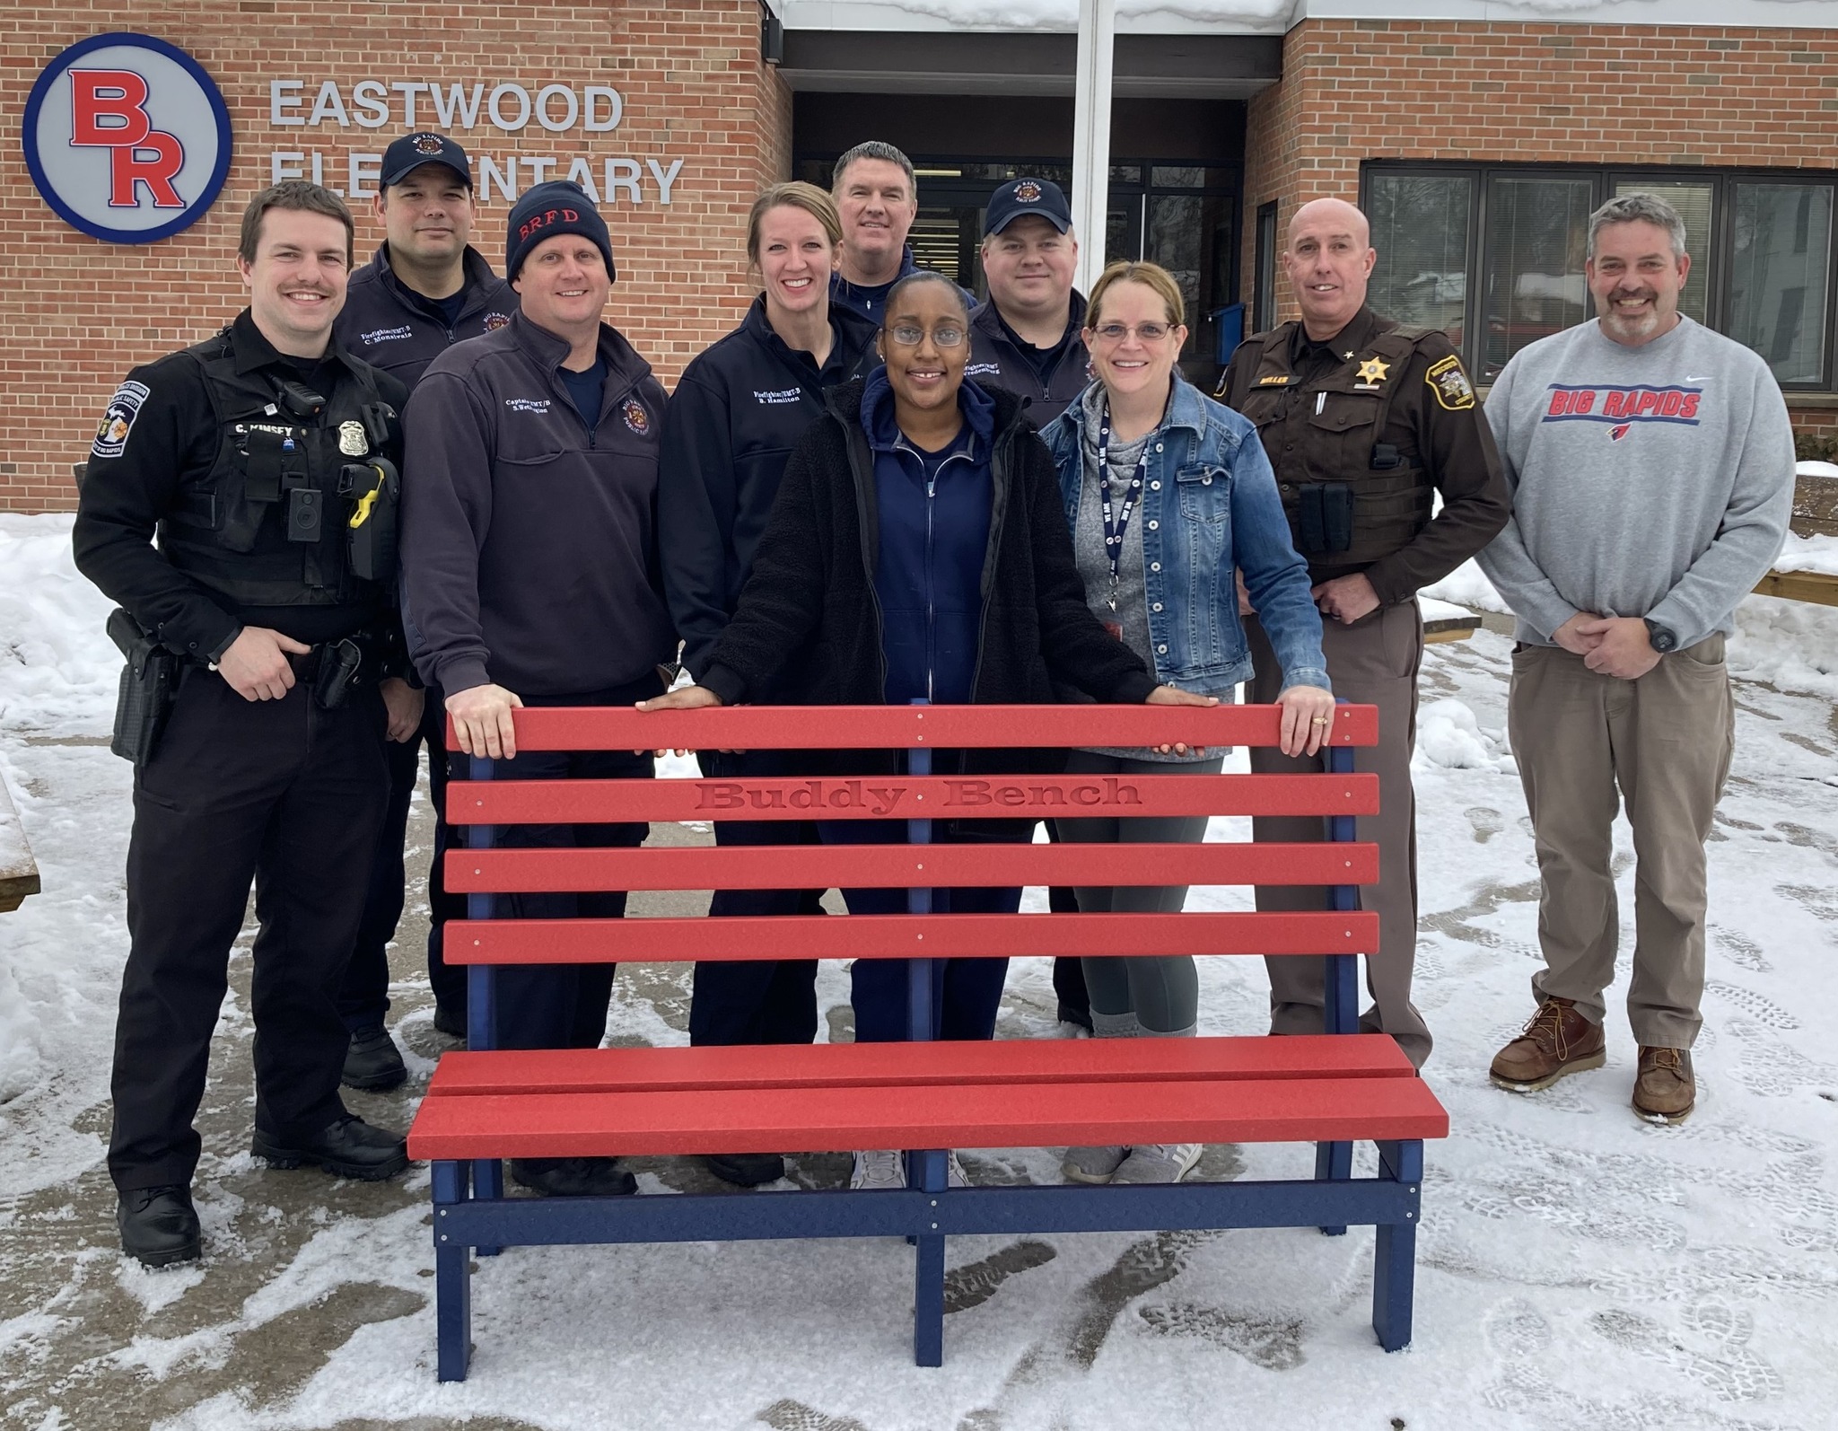
<path fill-rule="evenodd" d="M 358 79 L 340 83 L 323 79 L 316 86 L 307 79 L 268 81 L 268 123 L 301 131 L 391 131 L 390 138 L 410 129 L 437 129 L 465 143 L 472 158 L 472 177 L 478 199 L 489 204 L 493 195 L 515 202 L 522 189 L 551 178 L 579 184 L 596 204 L 669 204 L 682 175 L 680 158 L 607 156 L 581 153 L 520 155 L 482 153 L 491 140 L 474 140 L 472 131 L 493 129 L 516 140 L 531 125 L 546 134 L 610 134 L 625 116 L 625 99 L 610 85 L 542 85 L 529 88 L 516 83 L 443 83 L 439 79 Z M 318 136 L 314 136 L 318 138 Z M 346 199 L 369 199 L 377 193 L 382 173 L 382 136 L 375 151 L 346 149 L 270 149 L 268 182 L 283 178 L 311 178 Z"/>

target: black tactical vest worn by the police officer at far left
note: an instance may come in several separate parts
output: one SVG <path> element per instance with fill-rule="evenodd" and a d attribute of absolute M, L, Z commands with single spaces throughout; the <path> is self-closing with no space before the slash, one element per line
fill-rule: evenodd
<path fill-rule="evenodd" d="M 380 583 L 351 574 L 357 502 L 340 493 L 344 467 L 377 451 L 366 406 L 373 423 L 379 410 L 395 418 L 369 372 L 336 364 L 333 390 L 320 394 L 323 406 L 301 412 L 268 368 L 235 370 L 230 327 L 186 353 L 199 364 L 219 438 L 210 469 L 186 478 L 160 521 L 165 559 L 237 607 L 377 600 Z"/>

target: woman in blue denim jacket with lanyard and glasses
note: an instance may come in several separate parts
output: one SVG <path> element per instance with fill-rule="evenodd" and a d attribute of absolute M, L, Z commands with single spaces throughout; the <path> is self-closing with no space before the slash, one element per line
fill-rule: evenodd
<path fill-rule="evenodd" d="M 1235 572 L 1283 662 L 1283 750 L 1314 754 L 1334 697 L 1309 567 L 1290 544 L 1270 460 L 1250 421 L 1174 368 L 1186 342 L 1174 278 L 1112 263 L 1092 289 L 1084 344 L 1097 381 L 1042 436 L 1059 465 L 1086 603 L 1158 681 L 1231 699 L 1252 673 Z M 1171 765 L 1173 761 L 1173 765 Z M 1222 752 L 1176 747 L 1075 750 L 1075 774 L 1211 774 Z M 1068 842 L 1198 842 L 1206 817 L 1062 819 Z M 1086 914 L 1178 910 L 1186 887 L 1077 890 Z M 1086 958 L 1099 1037 L 1191 1036 L 1198 975 L 1189 955 Z M 1081 1183 L 1178 1183 L 1198 1144 L 1070 1148 Z"/>

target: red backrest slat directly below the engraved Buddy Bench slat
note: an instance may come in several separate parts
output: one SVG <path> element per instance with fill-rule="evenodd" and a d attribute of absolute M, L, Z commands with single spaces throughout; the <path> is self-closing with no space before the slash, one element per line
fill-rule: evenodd
<path fill-rule="evenodd" d="M 1375 844 L 752 844 L 448 850 L 456 894 L 954 885 L 1369 885 Z"/>

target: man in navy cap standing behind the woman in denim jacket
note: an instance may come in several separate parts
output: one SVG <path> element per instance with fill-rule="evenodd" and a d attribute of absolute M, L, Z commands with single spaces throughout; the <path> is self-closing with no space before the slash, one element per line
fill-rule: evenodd
<path fill-rule="evenodd" d="M 970 313 L 970 366 L 965 377 L 1007 388 L 1037 427 L 1064 412 L 1090 377 L 1084 351 L 1084 294 L 1072 287 L 1079 235 L 1066 193 L 1048 178 L 1011 178 L 983 212 L 983 278 L 989 302 Z M 1048 839 L 1059 824 L 1044 820 Z M 1077 914 L 1070 888 L 1049 888 L 1055 914 Z M 1092 1026 L 1092 999 L 1077 958 L 1053 960 L 1059 1021 Z"/>

